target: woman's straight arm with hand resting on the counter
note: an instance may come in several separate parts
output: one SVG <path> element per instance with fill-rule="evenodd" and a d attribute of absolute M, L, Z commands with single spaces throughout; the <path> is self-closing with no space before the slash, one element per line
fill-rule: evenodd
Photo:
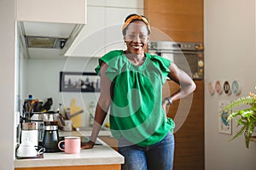
<path fill-rule="evenodd" d="M 102 127 L 102 123 L 104 122 L 107 114 L 108 114 L 108 108 L 111 103 L 111 97 L 110 97 L 110 86 L 111 81 L 106 76 L 105 71 L 108 69 L 108 65 L 105 63 L 102 63 L 101 66 L 101 95 L 98 99 L 97 105 L 96 105 L 96 113 L 94 117 L 94 124 L 92 127 L 91 135 L 90 135 L 90 142 L 82 144 L 82 149 L 89 149 L 93 148 L 96 138 L 100 132 L 100 129 Z"/>

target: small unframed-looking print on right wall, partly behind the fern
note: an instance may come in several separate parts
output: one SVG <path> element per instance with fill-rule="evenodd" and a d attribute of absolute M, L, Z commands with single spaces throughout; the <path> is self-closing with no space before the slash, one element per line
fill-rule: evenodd
<path fill-rule="evenodd" d="M 218 131 L 219 133 L 231 134 L 232 121 L 228 121 L 229 111 L 224 111 L 224 107 L 228 105 L 230 101 L 218 101 Z"/>

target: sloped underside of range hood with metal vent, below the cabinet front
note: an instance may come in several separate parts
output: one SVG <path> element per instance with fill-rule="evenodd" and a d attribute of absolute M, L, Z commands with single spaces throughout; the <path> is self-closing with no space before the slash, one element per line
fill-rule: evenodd
<path fill-rule="evenodd" d="M 62 59 L 84 25 L 20 21 L 28 59 Z"/>

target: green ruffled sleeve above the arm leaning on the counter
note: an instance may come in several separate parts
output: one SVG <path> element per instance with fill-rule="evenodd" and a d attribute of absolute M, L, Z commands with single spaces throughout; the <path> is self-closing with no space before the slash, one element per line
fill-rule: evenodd
<path fill-rule="evenodd" d="M 108 54 L 105 54 L 102 56 L 102 58 L 99 59 L 99 65 L 96 66 L 96 73 L 98 75 L 101 75 L 101 66 L 102 63 L 106 63 L 108 65 L 108 69 L 105 72 L 107 77 L 113 81 L 114 77 L 116 77 L 119 74 L 119 65 L 124 65 L 123 63 L 120 63 L 121 60 L 119 57 L 123 54 L 122 50 L 114 50 L 110 51 Z"/>

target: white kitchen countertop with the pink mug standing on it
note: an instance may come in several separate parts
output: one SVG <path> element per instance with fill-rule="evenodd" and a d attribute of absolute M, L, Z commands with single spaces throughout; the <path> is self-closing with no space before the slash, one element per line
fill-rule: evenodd
<path fill-rule="evenodd" d="M 87 131 L 81 131 L 78 133 L 76 131 L 60 131 L 59 134 L 60 136 L 89 136 L 90 132 L 88 133 Z M 103 134 L 107 134 L 107 132 Z M 64 152 L 56 152 L 44 153 L 44 158 L 15 159 L 15 169 L 21 169 L 21 167 L 61 167 L 62 169 L 64 167 L 72 167 L 73 169 L 76 169 L 76 166 L 79 166 L 79 168 L 81 168 L 81 166 L 93 166 L 95 169 L 97 169 L 96 166 L 111 166 L 109 169 L 119 169 L 120 164 L 124 163 L 124 157 L 108 146 L 108 144 L 104 143 L 101 139 L 97 140 L 100 141 L 102 145 L 95 145 L 93 149 L 81 150 L 79 154 L 65 154 Z M 102 169 L 102 167 L 99 169 Z M 107 168 L 104 167 L 104 169 Z"/>

